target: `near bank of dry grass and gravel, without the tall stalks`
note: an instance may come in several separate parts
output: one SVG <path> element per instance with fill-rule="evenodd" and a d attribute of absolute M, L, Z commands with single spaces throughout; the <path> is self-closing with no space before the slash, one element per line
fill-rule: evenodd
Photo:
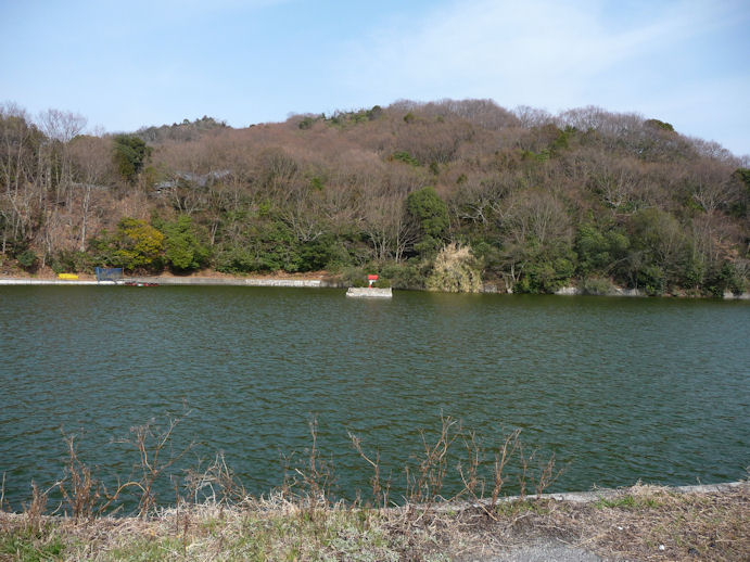
<path fill-rule="evenodd" d="M 283 494 L 147 518 L 0 512 L 0 560 L 711 560 L 750 557 L 750 485 L 370 509 Z"/>

